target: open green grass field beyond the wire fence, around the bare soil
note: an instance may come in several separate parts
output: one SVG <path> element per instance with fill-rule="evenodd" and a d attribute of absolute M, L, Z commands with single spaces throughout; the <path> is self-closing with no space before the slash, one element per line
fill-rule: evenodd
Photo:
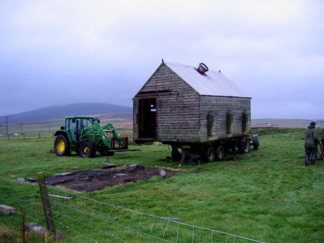
<path fill-rule="evenodd" d="M 219 230 L 265 242 L 324 241 L 324 165 L 305 167 L 304 129 L 264 129 L 260 150 L 226 154 L 222 161 L 182 166 L 168 179 L 155 177 L 83 194 L 112 205 L 161 217 L 182 218 L 185 224 Z M 0 177 L 29 178 L 100 168 L 106 157 L 53 153 L 52 136 L 30 139 L 0 138 Z M 117 167 L 140 164 L 179 169 L 167 159 L 168 146 L 131 146 L 141 151 L 115 153 Z M 252 149 L 252 147 L 251 147 Z M 5 220 L 0 217 L 1 220 Z M 14 241 L 11 241 L 14 242 Z"/>

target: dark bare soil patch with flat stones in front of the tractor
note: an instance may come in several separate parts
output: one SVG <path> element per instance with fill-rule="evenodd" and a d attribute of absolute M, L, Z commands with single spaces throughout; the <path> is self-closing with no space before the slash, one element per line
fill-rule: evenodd
<path fill-rule="evenodd" d="M 154 176 L 168 178 L 181 171 L 167 170 L 140 165 L 129 166 L 126 169 L 76 171 L 46 176 L 47 185 L 60 186 L 78 192 L 103 190 L 120 184 L 147 180 Z"/>

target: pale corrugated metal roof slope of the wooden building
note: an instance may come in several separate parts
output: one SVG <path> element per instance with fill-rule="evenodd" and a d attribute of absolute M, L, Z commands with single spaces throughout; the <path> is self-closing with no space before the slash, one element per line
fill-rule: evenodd
<path fill-rule="evenodd" d="M 164 63 L 200 95 L 249 97 L 219 71 L 209 70 L 201 74 L 197 67 Z"/>

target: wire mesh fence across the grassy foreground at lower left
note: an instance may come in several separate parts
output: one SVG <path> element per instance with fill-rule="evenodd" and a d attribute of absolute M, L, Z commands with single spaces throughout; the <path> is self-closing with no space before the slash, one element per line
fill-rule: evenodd
<path fill-rule="evenodd" d="M 71 192 L 47 187 L 50 206 L 42 204 L 35 185 L 0 178 L 0 204 L 17 209 L 3 217 L 19 229 L 25 222 L 46 226 L 45 211 L 51 211 L 56 233 L 64 242 L 262 242 L 212 229 L 187 225 L 117 207 Z M 44 185 L 43 185 L 44 186 Z"/>

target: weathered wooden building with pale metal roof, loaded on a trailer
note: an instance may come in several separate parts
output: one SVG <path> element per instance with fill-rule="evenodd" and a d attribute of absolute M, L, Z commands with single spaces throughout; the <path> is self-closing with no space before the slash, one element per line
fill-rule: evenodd
<path fill-rule="evenodd" d="M 251 98 L 220 71 L 164 62 L 133 98 L 136 143 L 206 150 L 250 134 Z M 216 145 L 215 145 L 216 143 Z"/>

